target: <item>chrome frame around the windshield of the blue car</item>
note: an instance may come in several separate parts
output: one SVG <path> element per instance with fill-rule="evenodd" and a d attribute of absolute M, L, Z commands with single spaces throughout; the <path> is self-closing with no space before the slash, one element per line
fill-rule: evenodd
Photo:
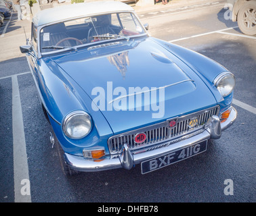
<path fill-rule="evenodd" d="M 142 24 L 142 22 L 140 21 L 140 19 L 138 18 L 137 14 L 135 14 L 135 11 L 111 11 L 111 13 L 102 13 L 102 14 L 93 14 L 93 15 L 90 15 L 89 17 L 93 17 L 93 16 L 101 16 L 101 15 L 108 15 L 108 14 L 121 14 L 121 13 L 129 13 L 129 14 L 132 14 L 135 19 L 137 19 L 137 22 L 139 22 L 140 26 L 142 27 L 142 29 L 144 30 L 144 33 L 142 34 L 134 34 L 134 35 L 131 35 L 131 36 L 127 36 L 129 37 L 129 40 L 131 40 L 131 38 L 137 38 L 137 37 L 142 37 L 142 36 L 149 36 L 145 26 Z M 40 38 L 40 34 L 41 34 L 41 30 L 43 28 L 45 28 L 46 26 L 51 26 L 53 24 L 58 24 L 58 23 L 61 23 L 61 22 L 68 22 L 68 21 L 71 21 L 71 20 L 77 20 L 77 19 L 81 19 L 81 18 L 88 18 L 88 16 L 79 16 L 79 17 L 74 17 L 72 19 L 68 18 L 66 20 L 58 20 L 58 22 L 49 22 L 47 24 L 44 24 L 44 25 L 41 25 L 41 26 L 38 26 L 37 27 L 37 38 Z M 95 41 L 95 42 L 91 42 L 91 43 L 85 43 L 83 45 L 77 45 L 77 46 L 74 46 L 74 49 L 79 49 L 79 48 L 85 48 L 85 47 L 91 47 L 91 46 L 94 46 L 94 45 L 99 45 L 101 43 L 111 43 L 111 42 L 114 42 L 114 41 L 120 41 L 120 40 L 125 40 L 125 38 L 123 37 L 117 37 L 117 38 L 110 38 L 108 40 L 102 40 L 102 41 Z M 70 48 L 64 48 L 64 49 L 58 49 L 58 50 L 53 50 L 53 51 L 49 51 L 49 52 L 41 52 L 41 40 L 37 40 L 37 47 L 38 47 L 38 57 L 39 59 L 43 56 L 47 56 L 47 55 L 58 55 L 62 52 L 65 52 L 65 51 L 74 51 L 73 49 L 70 49 Z"/>

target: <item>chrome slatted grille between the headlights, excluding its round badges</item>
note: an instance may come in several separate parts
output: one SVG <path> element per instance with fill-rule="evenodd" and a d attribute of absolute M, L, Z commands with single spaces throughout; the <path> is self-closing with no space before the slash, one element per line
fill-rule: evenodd
<path fill-rule="evenodd" d="M 167 121 L 159 124 L 154 124 L 145 128 L 132 130 L 116 136 L 112 136 L 108 139 L 108 147 L 110 153 L 120 153 L 123 144 L 127 143 L 131 151 L 137 150 L 138 148 L 144 148 L 158 144 L 163 140 L 174 140 L 190 132 L 202 129 L 207 123 L 209 117 L 212 115 L 219 115 L 219 106 L 215 106 L 209 109 L 198 111 L 182 117 L 175 117 L 168 119 Z M 188 125 L 191 119 L 197 119 L 197 125 L 190 128 Z M 175 121 L 175 126 L 169 127 L 169 122 Z M 203 131 L 203 130 L 202 130 Z M 134 137 L 138 133 L 145 133 L 146 140 L 140 144 L 134 141 Z M 152 148 L 153 149 L 153 148 Z"/>

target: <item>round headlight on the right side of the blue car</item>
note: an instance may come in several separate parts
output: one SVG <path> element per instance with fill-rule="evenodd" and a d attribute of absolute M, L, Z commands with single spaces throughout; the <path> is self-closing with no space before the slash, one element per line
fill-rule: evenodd
<path fill-rule="evenodd" d="M 234 89 L 234 86 L 235 86 L 234 75 L 229 72 L 219 74 L 219 76 L 215 78 L 214 84 L 217 90 L 219 90 L 219 93 L 221 93 L 223 97 L 226 97 Z"/>

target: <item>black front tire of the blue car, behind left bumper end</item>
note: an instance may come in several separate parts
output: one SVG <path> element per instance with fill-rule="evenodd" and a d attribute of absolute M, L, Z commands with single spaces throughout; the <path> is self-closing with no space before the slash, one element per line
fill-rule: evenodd
<path fill-rule="evenodd" d="M 53 132 L 53 134 L 54 134 L 54 132 Z M 60 146 L 60 142 L 58 141 L 55 134 L 54 134 L 54 142 L 55 142 L 55 146 L 57 148 L 57 153 L 58 153 L 58 158 L 60 161 L 60 167 L 62 169 L 62 173 L 64 173 L 64 175 L 75 175 L 75 174 L 79 173 L 79 171 L 71 169 L 66 164 L 66 161 L 64 159 L 64 151 L 62 149 L 62 146 Z"/>

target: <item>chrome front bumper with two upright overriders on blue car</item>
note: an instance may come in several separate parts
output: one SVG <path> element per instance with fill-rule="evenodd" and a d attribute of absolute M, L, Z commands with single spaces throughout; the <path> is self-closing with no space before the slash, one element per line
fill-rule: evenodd
<path fill-rule="evenodd" d="M 202 132 L 195 135 L 186 134 L 185 138 L 182 138 L 178 142 L 172 142 L 168 144 L 170 140 L 163 141 L 163 147 L 155 148 L 150 151 L 142 151 L 141 153 L 133 153 L 127 144 L 123 144 L 121 151 L 118 155 L 104 157 L 102 160 L 85 159 L 81 156 L 64 154 L 64 159 L 70 168 L 77 171 L 103 171 L 107 169 L 125 168 L 131 169 L 136 164 L 148 161 L 161 155 L 168 155 L 182 148 L 190 148 L 196 143 L 203 142 L 204 140 L 217 139 L 221 137 L 221 132 L 229 128 L 236 120 L 237 112 L 234 107 L 230 107 L 230 115 L 225 121 L 219 119 L 217 115 L 213 115 L 207 121 Z M 173 141 L 173 140 L 171 140 Z M 165 145 L 165 143 L 167 143 Z"/>

